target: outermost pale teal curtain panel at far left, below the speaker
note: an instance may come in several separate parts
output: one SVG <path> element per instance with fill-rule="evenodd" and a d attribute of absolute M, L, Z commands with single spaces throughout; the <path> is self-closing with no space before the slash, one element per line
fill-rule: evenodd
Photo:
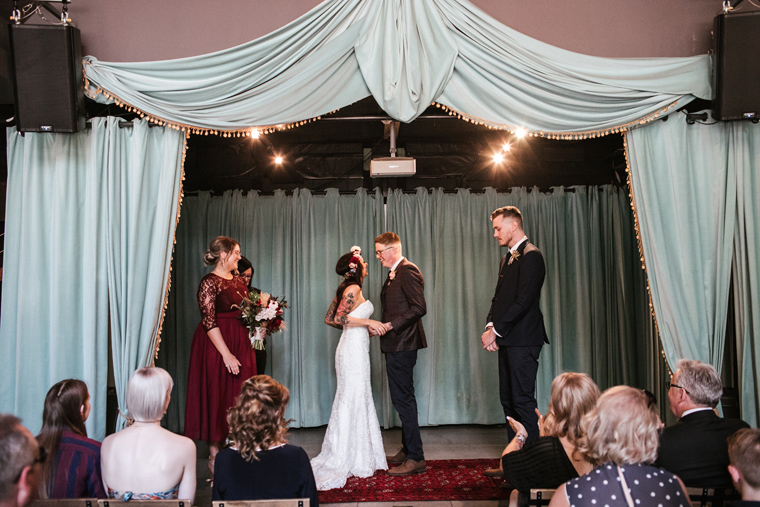
<path fill-rule="evenodd" d="M 42 426 L 45 394 L 84 380 L 95 409 L 92 438 L 105 436 L 108 375 L 106 192 L 108 131 L 98 119 L 78 134 L 8 140 L 8 190 L 0 314 L 0 412 Z"/>

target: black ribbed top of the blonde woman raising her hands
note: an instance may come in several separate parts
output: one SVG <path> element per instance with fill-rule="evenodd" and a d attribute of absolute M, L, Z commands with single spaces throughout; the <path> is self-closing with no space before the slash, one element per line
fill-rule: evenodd
<path fill-rule="evenodd" d="M 519 451 L 505 454 L 501 460 L 507 479 L 521 493 L 555 489 L 578 477 L 557 437 L 539 437 Z"/>

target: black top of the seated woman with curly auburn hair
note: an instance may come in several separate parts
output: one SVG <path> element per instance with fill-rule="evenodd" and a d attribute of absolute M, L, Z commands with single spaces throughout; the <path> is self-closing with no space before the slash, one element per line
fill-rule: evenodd
<path fill-rule="evenodd" d="M 214 461 L 212 500 L 308 498 L 319 506 L 317 484 L 306 451 L 285 444 L 246 461 L 235 449 L 219 451 Z"/>

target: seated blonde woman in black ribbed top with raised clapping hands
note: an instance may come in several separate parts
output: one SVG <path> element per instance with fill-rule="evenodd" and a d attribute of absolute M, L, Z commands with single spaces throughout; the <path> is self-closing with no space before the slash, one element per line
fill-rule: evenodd
<path fill-rule="evenodd" d="M 553 489 L 565 481 L 588 473 L 593 467 L 578 451 L 583 436 L 581 420 L 596 406 L 599 388 L 585 373 L 563 373 L 552 382 L 549 411 L 539 415 L 538 440 L 523 447 L 528 432 L 509 418 L 515 438 L 502 456 L 504 475 L 517 492 L 531 488 Z"/>

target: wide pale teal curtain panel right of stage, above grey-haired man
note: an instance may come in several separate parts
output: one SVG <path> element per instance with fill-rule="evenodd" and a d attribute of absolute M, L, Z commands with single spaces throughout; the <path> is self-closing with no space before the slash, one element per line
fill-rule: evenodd
<path fill-rule="evenodd" d="M 641 244 L 668 363 L 720 369 L 728 312 L 736 176 L 723 128 L 680 116 L 627 136 Z"/>

